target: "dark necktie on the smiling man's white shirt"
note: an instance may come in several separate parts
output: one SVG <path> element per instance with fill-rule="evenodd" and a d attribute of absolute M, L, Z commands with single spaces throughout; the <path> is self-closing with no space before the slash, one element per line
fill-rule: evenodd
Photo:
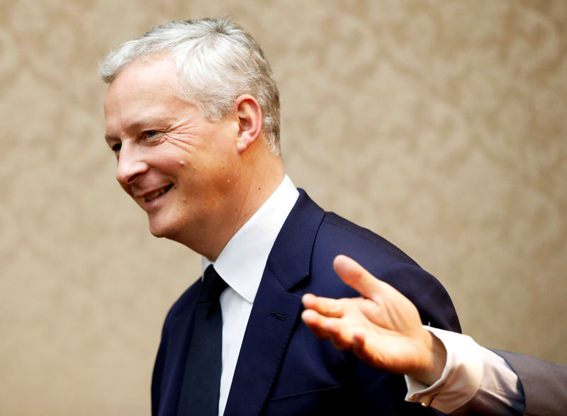
<path fill-rule="evenodd" d="M 178 416 L 217 416 L 223 316 L 218 297 L 227 284 L 207 267 L 195 308 L 193 335 L 181 386 Z"/>

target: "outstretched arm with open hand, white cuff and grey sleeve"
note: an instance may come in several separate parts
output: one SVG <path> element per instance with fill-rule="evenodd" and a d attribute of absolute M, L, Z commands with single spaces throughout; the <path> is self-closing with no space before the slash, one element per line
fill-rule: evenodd
<path fill-rule="evenodd" d="M 331 339 L 339 349 L 352 350 L 367 364 L 408 376 L 407 400 L 454 415 L 565 412 L 566 366 L 490 352 L 465 335 L 423 327 L 410 300 L 357 262 L 337 256 L 334 265 L 344 283 L 364 298 L 306 294 L 304 322 L 316 335 Z M 443 365 L 431 366 L 431 361 Z"/>

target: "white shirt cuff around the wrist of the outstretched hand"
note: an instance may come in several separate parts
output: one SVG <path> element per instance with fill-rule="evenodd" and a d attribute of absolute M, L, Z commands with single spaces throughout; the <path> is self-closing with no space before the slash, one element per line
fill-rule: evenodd
<path fill-rule="evenodd" d="M 485 415 L 522 415 L 524 392 L 517 374 L 498 354 L 478 345 L 471 337 L 424 328 L 447 350 L 441 378 L 427 386 L 405 376 L 405 400 L 422 403 L 453 415 L 474 411 Z"/>

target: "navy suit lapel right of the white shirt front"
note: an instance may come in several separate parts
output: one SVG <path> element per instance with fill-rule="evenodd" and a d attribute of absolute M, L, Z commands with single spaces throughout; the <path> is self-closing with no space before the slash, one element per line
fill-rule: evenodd
<path fill-rule="evenodd" d="M 272 247 L 240 348 L 225 416 L 259 415 L 279 371 L 301 297 L 290 292 L 308 277 L 323 211 L 304 191 Z"/>

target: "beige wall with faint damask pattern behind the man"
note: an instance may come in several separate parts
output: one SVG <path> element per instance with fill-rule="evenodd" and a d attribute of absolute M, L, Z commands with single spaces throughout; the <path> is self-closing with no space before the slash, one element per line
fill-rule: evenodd
<path fill-rule="evenodd" d="M 190 16 L 264 45 L 298 186 L 436 275 L 479 341 L 567 364 L 566 1 L 0 6 L 1 415 L 149 413 L 199 259 L 114 181 L 96 69 Z"/>

